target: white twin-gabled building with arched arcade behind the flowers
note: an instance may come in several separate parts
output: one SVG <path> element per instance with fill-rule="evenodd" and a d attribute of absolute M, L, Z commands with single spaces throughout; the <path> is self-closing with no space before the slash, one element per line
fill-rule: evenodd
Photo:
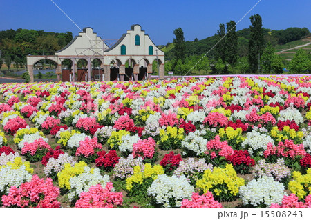
<path fill-rule="evenodd" d="M 103 70 L 104 77 L 102 79 L 104 81 L 111 80 L 112 66 L 114 67 L 113 72 L 117 69 L 117 75 L 121 81 L 132 75 L 133 79 L 138 80 L 138 75 L 142 71 L 146 71 L 151 76 L 153 61 L 158 63 L 160 79 L 164 78 L 164 52 L 157 48 L 149 35 L 145 34 L 138 24 L 131 26 L 131 29 L 127 30 L 126 34 L 123 34 L 111 48 L 93 32 L 93 28 L 84 28 L 83 32 L 79 32 L 79 35 L 73 38 L 67 46 L 57 51 L 55 56 L 28 56 L 27 66 L 30 81 L 33 81 L 34 64 L 42 59 L 50 59 L 57 63 L 56 73 L 59 79 L 62 74 L 62 62 L 70 59 L 73 66 L 73 70 L 70 72 L 70 81 L 75 81 L 73 76 L 78 72 L 77 62 L 80 59 L 85 59 L 88 62 L 88 70 L 92 69 L 91 62 L 98 59 Z M 91 71 L 86 72 L 85 79 L 90 81 L 92 79 Z M 113 77 L 115 78 L 115 74 Z"/>

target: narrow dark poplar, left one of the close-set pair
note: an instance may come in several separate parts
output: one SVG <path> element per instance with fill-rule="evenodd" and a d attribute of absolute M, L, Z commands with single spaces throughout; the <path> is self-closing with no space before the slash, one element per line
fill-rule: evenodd
<path fill-rule="evenodd" d="M 219 58 L 223 63 L 226 61 L 227 57 L 227 50 L 226 50 L 226 39 L 222 39 L 225 36 L 225 25 L 223 23 L 220 23 L 219 30 L 217 30 L 217 34 L 215 34 L 215 43 L 218 42 L 218 44 L 215 46 L 215 59 L 218 60 Z M 222 39 L 220 41 L 220 39 Z"/>

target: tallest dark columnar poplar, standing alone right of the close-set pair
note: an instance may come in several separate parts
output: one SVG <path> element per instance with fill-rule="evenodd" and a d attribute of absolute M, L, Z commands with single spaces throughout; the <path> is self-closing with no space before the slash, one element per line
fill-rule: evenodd
<path fill-rule="evenodd" d="M 257 72 L 258 60 L 263 54 L 265 39 L 263 37 L 262 20 L 259 14 L 250 17 L 252 26 L 249 26 L 250 36 L 248 43 L 248 61 L 250 70 Z"/>

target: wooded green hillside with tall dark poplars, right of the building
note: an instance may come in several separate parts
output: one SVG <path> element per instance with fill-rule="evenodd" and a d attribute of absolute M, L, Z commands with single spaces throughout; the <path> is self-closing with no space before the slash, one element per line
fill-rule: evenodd
<path fill-rule="evenodd" d="M 307 36 L 310 34 L 308 28 L 266 29 L 262 27 L 259 14 L 252 15 L 249 20 L 249 28 L 240 31 L 236 31 L 235 21 L 220 23 L 213 37 L 201 41 L 185 41 L 182 28 L 177 28 L 173 32 L 173 43 L 161 48 L 167 59 L 166 70 L 177 74 L 200 70 L 214 74 L 281 74 L 285 61 L 275 53 L 274 46 Z M 300 49 L 286 67 L 292 73 L 311 72 L 310 58 L 310 53 Z"/>

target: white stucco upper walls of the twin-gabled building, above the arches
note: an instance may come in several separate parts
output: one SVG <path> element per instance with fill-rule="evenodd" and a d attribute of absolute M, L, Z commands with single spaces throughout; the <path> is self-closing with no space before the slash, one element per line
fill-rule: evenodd
<path fill-rule="evenodd" d="M 64 59 L 75 59 L 75 64 L 79 59 L 88 58 L 93 61 L 96 57 L 102 61 L 103 65 L 109 65 L 113 59 L 120 61 L 119 65 L 124 65 L 127 60 L 133 59 L 136 64 L 146 66 L 156 60 L 156 50 L 158 50 L 159 63 L 164 63 L 164 52 L 159 50 L 151 41 L 149 35 L 146 35 L 140 25 L 131 26 L 126 34 L 123 34 L 121 39 L 109 48 L 106 46 L 101 37 L 98 37 L 93 28 L 84 28 L 84 32 L 79 32 L 73 41 L 68 43 L 65 48 L 55 53 L 55 56 L 48 56 L 57 64 L 61 64 Z M 135 45 L 135 36 L 140 36 L 140 45 Z M 126 46 L 126 55 L 121 55 L 121 46 Z M 153 55 L 149 55 L 149 46 L 153 46 Z M 47 58 L 47 56 L 28 56 L 28 65 L 32 66 L 40 59 Z"/>

